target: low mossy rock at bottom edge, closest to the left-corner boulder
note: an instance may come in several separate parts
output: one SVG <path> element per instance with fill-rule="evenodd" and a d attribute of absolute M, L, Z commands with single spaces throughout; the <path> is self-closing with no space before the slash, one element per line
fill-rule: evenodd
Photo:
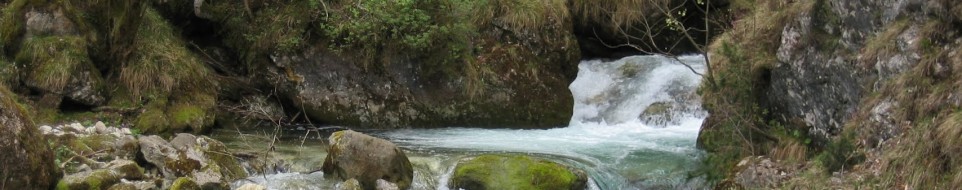
<path fill-rule="evenodd" d="M 107 189 L 120 179 L 121 175 L 108 169 L 86 171 L 65 176 L 57 183 L 57 189 Z"/>

